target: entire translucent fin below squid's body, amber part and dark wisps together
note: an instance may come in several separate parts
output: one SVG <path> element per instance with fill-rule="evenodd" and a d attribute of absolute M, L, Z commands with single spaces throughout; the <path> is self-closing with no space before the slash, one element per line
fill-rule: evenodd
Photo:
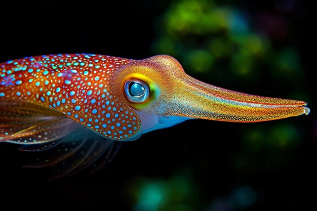
<path fill-rule="evenodd" d="M 21 151 L 36 153 L 36 161 L 25 167 L 47 167 L 52 179 L 89 166 L 101 168 L 120 145 L 59 111 L 15 101 L 0 102 L 0 141 L 22 144 Z"/>

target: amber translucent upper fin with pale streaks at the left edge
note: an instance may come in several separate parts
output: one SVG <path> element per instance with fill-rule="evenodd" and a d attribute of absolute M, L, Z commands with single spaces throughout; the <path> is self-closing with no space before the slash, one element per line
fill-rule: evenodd
<path fill-rule="evenodd" d="M 51 142 L 69 133 L 75 121 L 50 108 L 27 102 L 0 102 L 0 141 Z"/>

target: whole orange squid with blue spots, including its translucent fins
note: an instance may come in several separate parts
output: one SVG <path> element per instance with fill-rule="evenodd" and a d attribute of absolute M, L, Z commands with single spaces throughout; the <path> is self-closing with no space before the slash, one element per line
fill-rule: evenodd
<path fill-rule="evenodd" d="M 259 122 L 308 114 L 305 105 L 209 85 L 167 55 L 57 54 L 0 64 L 0 142 L 58 149 L 28 166 L 55 166 L 60 176 L 98 160 L 103 166 L 121 142 L 187 119 Z"/>

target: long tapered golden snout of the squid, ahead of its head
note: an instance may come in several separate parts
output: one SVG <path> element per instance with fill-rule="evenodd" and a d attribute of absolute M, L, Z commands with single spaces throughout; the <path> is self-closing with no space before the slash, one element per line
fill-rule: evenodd
<path fill-rule="evenodd" d="M 175 79 L 164 115 L 233 122 L 257 122 L 308 114 L 307 103 L 260 97 L 215 87 L 183 72 Z"/>

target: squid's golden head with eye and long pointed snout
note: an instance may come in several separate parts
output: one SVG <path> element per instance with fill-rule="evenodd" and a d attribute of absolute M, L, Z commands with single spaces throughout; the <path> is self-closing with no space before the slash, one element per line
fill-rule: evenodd
<path fill-rule="evenodd" d="M 209 85 L 187 75 L 173 57 L 160 55 L 124 66 L 113 75 L 116 98 L 124 99 L 142 133 L 190 118 L 257 122 L 308 114 L 305 102 L 260 97 Z"/>

